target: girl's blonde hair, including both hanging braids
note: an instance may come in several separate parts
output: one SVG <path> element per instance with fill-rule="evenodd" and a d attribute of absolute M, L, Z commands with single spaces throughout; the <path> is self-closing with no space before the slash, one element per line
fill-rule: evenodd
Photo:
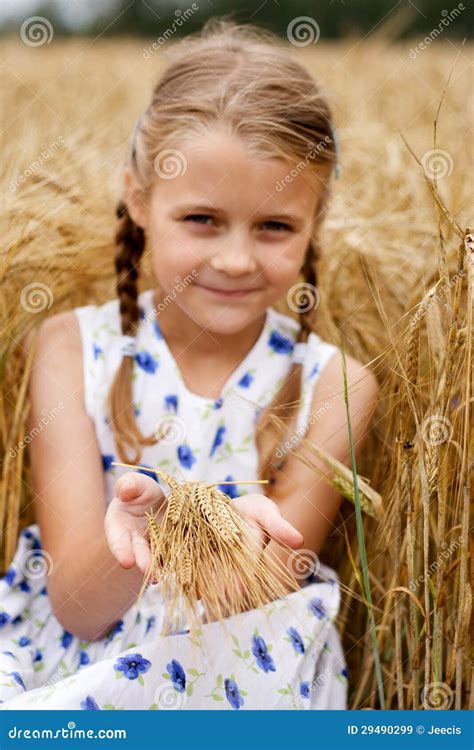
<path fill-rule="evenodd" d="M 171 62 L 156 84 L 151 100 L 139 119 L 127 156 L 140 187 L 146 192 L 156 176 L 158 154 L 171 143 L 199 137 L 218 121 L 219 126 L 243 139 L 256 153 L 278 156 L 291 163 L 305 159 L 305 168 L 316 173 L 324 189 L 312 237 L 301 273 L 304 281 L 317 286 L 316 265 L 320 256 L 318 229 L 330 194 L 330 175 L 336 165 L 336 143 L 329 106 L 312 76 L 270 32 L 230 21 L 208 22 L 199 35 L 186 37 L 171 53 Z M 315 144 L 324 148 L 308 153 Z M 323 177 L 321 177 L 323 173 Z M 132 220 L 125 201 L 117 207 L 117 294 L 122 333 L 133 336 L 139 323 L 139 264 L 145 248 L 143 230 Z M 314 306 L 304 305 L 299 315 L 298 341 L 306 342 L 314 328 Z M 293 363 L 285 382 L 271 404 L 260 414 L 256 426 L 259 477 L 275 481 L 279 439 L 272 433 L 275 414 L 290 423 L 301 396 L 301 364 Z M 124 356 L 109 394 L 110 425 L 121 460 L 138 463 L 141 448 L 154 445 L 159 437 L 144 436 L 136 422 L 132 399 L 133 357 Z M 132 449 L 132 457 L 126 450 Z"/>

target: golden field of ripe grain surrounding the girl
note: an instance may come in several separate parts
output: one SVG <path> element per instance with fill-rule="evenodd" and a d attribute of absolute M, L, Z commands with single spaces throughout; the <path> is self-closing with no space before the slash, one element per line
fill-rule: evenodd
<path fill-rule="evenodd" d="M 335 5 L 344 21 L 343 4 Z M 326 28 L 325 13 L 318 19 L 304 4 L 301 14 L 287 4 L 288 19 L 279 26 L 281 43 L 291 45 L 320 81 L 339 137 L 340 178 L 322 232 L 317 331 L 336 344 L 342 332 L 347 351 L 371 367 L 382 385 L 357 470 L 381 495 L 384 513 L 379 519 L 363 515 L 365 561 L 354 503 L 346 501 L 321 559 L 337 569 L 343 584 L 337 624 L 349 666 L 350 707 L 467 708 L 472 45 L 462 38 L 467 12 L 420 48 L 434 27 L 427 27 L 427 16 L 417 31 L 418 15 L 405 4 L 390 13 L 383 3 L 371 5 L 374 18 L 371 10 L 361 26 L 346 14 L 345 23 L 331 17 Z M 30 16 L 48 16 L 44 6 L 30 3 L 28 9 Z M 175 6 L 168 10 L 145 36 L 133 24 L 136 33 L 127 35 L 122 21 L 120 35 L 113 35 L 103 18 L 94 19 L 93 33 L 77 35 L 64 19 L 53 19 L 50 39 L 43 24 L 41 44 L 21 37 L 28 11 L 17 21 L 5 19 L 3 570 L 19 530 L 34 520 L 22 339 L 45 315 L 115 296 L 112 237 L 126 142 L 167 50 L 180 33 L 216 13 L 206 5 L 189 17 L 189 27 L 185 23 L 157 43 L 179 17 Z M 435 13 L 437 22 L 446 18 L 442 10 Z M 244 20 L 242 14 L 237 20 Z M 291 44 L 287 24 L 306 14 L 316 20 L 319 38 Z M 259 23 L 257 6 L 247 11 L 247 20 Z M 334 39 L 337 34 L 345 36 Z M 153 283 L 145 261 L 143 288 Z"/>

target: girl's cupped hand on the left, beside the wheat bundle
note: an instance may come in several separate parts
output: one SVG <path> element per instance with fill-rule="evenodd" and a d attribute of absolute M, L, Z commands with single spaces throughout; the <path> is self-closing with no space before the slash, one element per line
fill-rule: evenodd
<path fill-rule="evenodd" d="M 145 574 L 151 560 L 145 512 L 153 512 L 159 523 L 165 512 L 166 496 L 158 482 L 134 471 L 117 479 L 115 493 L 104 520 L 110 551 L 122 568 L 136 565 Z"/>

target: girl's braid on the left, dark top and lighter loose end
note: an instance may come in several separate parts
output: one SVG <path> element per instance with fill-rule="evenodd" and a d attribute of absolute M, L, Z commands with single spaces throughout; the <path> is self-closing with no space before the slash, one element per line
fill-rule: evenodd
<path fill-rule="evenodd" d="M 135 224 L 123 201 L 118 204 L 116 215 L 120 225 L 115 235 L 115 269 L 122 334 L 134 336 L 140 318 L 137 281 L 139 263 L 145 249 L 145 233 Z M 124 356 L 110 389 L 108 413 L 120 459 L 124 463 L 137 464 L 140 461 L 141 446 L 154 445 L 157 439 L 153 435 L 145 437 L 137 425 L 132 374 L 133 357 Z M 134 451 L 132 457 L 127 455 L 128 448 Z"/>

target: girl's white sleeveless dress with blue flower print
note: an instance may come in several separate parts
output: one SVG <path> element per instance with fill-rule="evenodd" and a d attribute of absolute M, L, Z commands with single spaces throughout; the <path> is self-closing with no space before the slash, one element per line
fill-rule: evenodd
<path fill-rule="evenodd" d="M 163 424 L 167 437 L 144 448 L 141 464 L 182 479 L 257 479 L 255 424 L 287 375 L 298 323 L 267 311 L 254 346 L 210 399 L 185 385 L 153 310 L 139 296 L 133 399 L 140 428 Z M 114 495 L 119 460 L 105 398 L 119 365 L 118 300 L 75 308 L 84 362 L 84 407 L 94 420 L 104 497 Z M 303 365 L 297 429 L 309 415 L 314 384 L 336 347 L 311 334 Z M 299 434 L 299 433 L 298 433 Z M 146 469 L 145 469 L 146 471 Z M 151 474 L 151 476 L 154 475 Z M 223 485 L 235 497 L 252 485 Z M 47 564 L 32 524 L 0 579 L 0 709 L 346 709 L 347 668 L 334 620 L 340 588 L 321 563 L 300 591 L 190 631 L 162 636 L 159 585 L 150 586 L 99 641 L 64 630 L 51 611 Z M 181 627 L 181 626 L 180 626 Z"/>

